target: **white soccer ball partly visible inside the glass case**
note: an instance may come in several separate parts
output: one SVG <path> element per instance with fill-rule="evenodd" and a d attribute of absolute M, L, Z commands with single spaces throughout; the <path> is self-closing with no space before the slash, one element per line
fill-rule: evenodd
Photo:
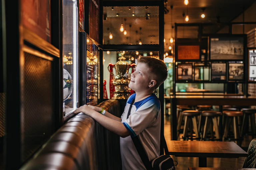
<path fill-rule="evenodd" d="M 72 93 L 73 81 L 67 70 L 63 68 L 63 102 L 69 98 Z"/>

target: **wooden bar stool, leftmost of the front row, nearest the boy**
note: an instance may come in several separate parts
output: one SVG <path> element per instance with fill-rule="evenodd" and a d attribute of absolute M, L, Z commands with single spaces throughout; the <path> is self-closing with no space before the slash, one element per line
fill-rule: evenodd
<path fill-rule="evenodd" d="M 196 138 L 199 139 L 199 133 L 197 129 L 196 117 L 200 115 L 200 112 L 195 110 L 185 110 L 182 112 L 185 117 L 185 125 L 183 129 L 183 139 L 187 139 L 188 128 L 190 124 L 190 139 L 193 139 L 193 128 L 195 130 Z"/>

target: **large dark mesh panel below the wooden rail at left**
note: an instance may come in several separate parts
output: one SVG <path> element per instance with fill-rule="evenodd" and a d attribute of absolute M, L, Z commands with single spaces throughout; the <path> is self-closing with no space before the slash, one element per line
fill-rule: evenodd
<path fill-rule="evenodd" d="M 54 70 L 49 61 L 24 52 L 22 160 L 30 157 L 54 132 Z"/>

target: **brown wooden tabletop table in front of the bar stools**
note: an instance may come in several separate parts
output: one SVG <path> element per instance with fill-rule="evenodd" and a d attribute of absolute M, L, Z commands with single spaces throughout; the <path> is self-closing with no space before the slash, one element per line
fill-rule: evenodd
<path fill-rule="evenodd" d="M 167 140 L 166 143 L 170 155 L 175 155 L 176 157 L 198 157 L 199 167 L 207 167 L 207 157 L 247 157 L 247 152 L 235 142 Z"/>

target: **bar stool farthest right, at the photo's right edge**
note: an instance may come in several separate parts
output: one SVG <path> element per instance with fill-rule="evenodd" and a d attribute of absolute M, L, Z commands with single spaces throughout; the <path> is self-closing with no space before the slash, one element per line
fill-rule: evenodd
<path fill-rule="evenodd" d="M 250 123 L 251 123 L 251 132 L 252 132 L 252 136 L 254 138 L 254 136 L 256 135 L 256 127 L 255 127 L 255 113 L 256 113 L 256 109 L 249 109 L 249 108 L 243 108 L 241 109 L 241 111 L 244 113 L 243 116 L 243 124 L 242 124 L 242 136 L 245 135 L 246 129 L 249 128 L 249 119 L 250 119 Z M 248 130 L 249 131 L 249 130 Z"/>

